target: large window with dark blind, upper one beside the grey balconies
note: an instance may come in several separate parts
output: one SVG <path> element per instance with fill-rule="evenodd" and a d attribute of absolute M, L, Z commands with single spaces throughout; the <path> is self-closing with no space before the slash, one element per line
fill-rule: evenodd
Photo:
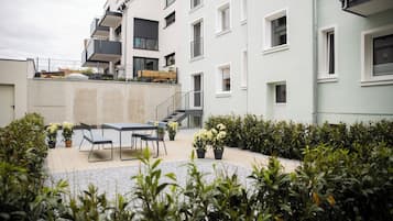
<path fill-rule="evenodd" d="M 134 48 L 159 51 L 159 22 L 134 19 Z"/>

